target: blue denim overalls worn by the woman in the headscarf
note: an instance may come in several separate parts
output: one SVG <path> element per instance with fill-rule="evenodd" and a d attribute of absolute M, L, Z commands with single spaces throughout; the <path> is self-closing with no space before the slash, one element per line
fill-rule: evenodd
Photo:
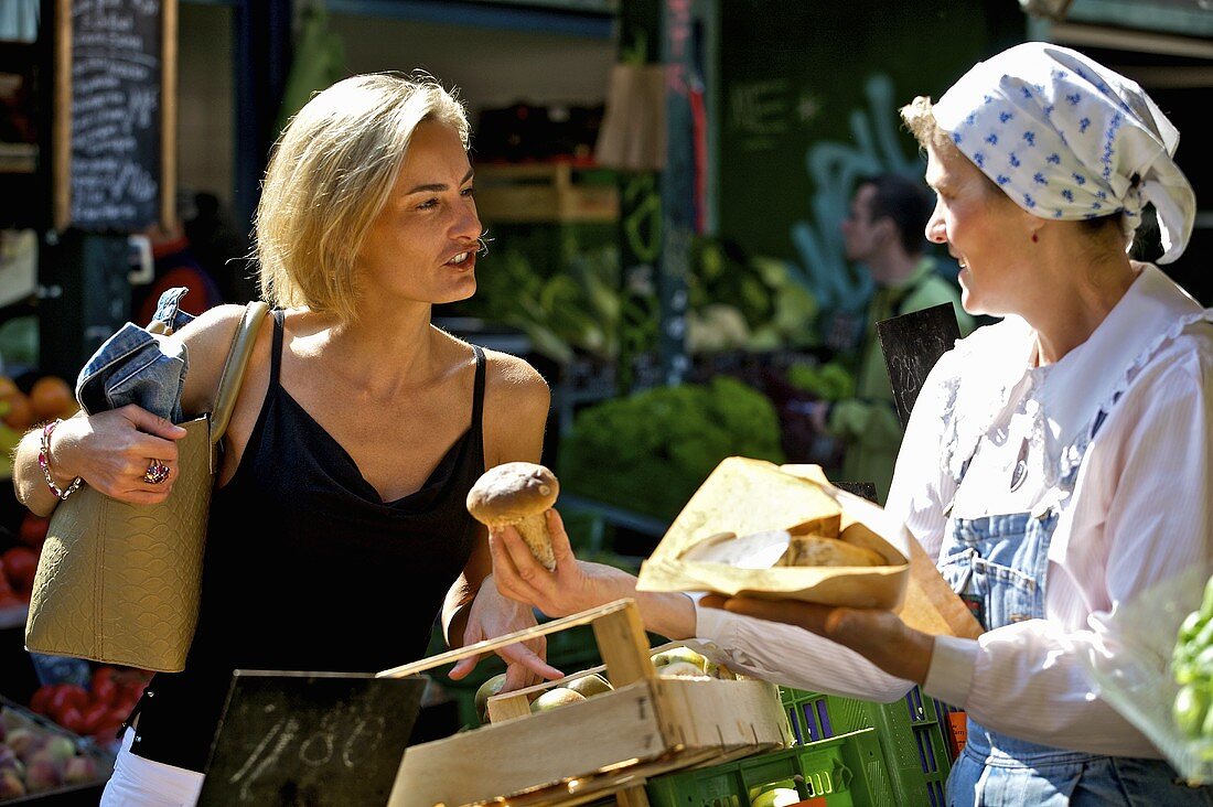
<path fill-rule="evenodd" d="M 940 572 L 986 630 L 1044 616 L 1049 542 L 1060 506 L 1049 502 L 1074 491 L 1082 455 L 1103 421 L 1104 413 L 1099 413 L 1054 495 L 1046 495 L 1033 512 L 950 519 Z M 962 466 L 957 488 L 968 466 Z M 1174 768 L 1162 760 L 1050 748 L 984 728 L 970 718 L 968 743 L 947 778 L 947 805 L 1213 805 L 1213 788 L 1177 782 Z"/>

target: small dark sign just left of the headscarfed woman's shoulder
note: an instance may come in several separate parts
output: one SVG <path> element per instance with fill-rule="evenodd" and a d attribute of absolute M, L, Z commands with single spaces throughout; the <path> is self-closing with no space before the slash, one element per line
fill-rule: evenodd
<path fill-rule="evenodd" d="M 927 374 L 939 357 L 956 346 L 961 326 L 956 309 L 944 302 L 922 311 L 912 311 L 893 319 L 876 323 L 884 365 L 893 385 L 893 402 L 901 419 L 901 428 L 910 421 L 913 403 L 918 399 Z"/>

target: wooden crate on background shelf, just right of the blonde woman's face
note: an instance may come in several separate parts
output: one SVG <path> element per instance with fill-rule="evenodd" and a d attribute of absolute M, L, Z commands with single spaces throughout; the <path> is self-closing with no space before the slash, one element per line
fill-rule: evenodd
<path fill-rule="evenodd" d="M 583 181 L 564 163 L 480 165 L 475 206 L 485 223 L 611 222 L 619 218 L 619 188 Z"/>

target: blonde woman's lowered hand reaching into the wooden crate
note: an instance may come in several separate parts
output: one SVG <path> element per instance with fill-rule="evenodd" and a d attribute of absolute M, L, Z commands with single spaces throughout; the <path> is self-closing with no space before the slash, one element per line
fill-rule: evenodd
<path fill-rule="evenodd" d="M 472 602 L 472 608 L 467 615 L 467 629 L 463 631 L 463 647 L 477 642 L 513 633 L 537 625 L 535 612 L 520 602 L 516 602 L 501 596 L 489 575 L 480 584 L 480 590 Z M 547 638 L 536 637 L 529 642 L 508 644 L 497 650 L 506 661 L 506 683 L 502 692 L 520 689 L 533 683 L 539 683 L 543 678 L 554 681 L 563 678 L 564 674 L 547 664 Z M 459 681 L 466 677 L 477 663 L 483 658 L 477 655 L 459 661 L 448 674 Z"/>

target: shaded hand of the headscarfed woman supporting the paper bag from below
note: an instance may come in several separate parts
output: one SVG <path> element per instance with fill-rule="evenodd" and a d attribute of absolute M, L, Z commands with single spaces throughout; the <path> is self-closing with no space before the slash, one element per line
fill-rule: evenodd
<path fill-rule="evenodd" d="M 700 604 L 797 625 L 849 647 L 889 675 L 916 683 L 927 681 L 935 640 L 929 633 L 907 626 L 893 612 L 818 606 L 796 599 L 725 598 L 719 595 L 708 595 Z"/>

